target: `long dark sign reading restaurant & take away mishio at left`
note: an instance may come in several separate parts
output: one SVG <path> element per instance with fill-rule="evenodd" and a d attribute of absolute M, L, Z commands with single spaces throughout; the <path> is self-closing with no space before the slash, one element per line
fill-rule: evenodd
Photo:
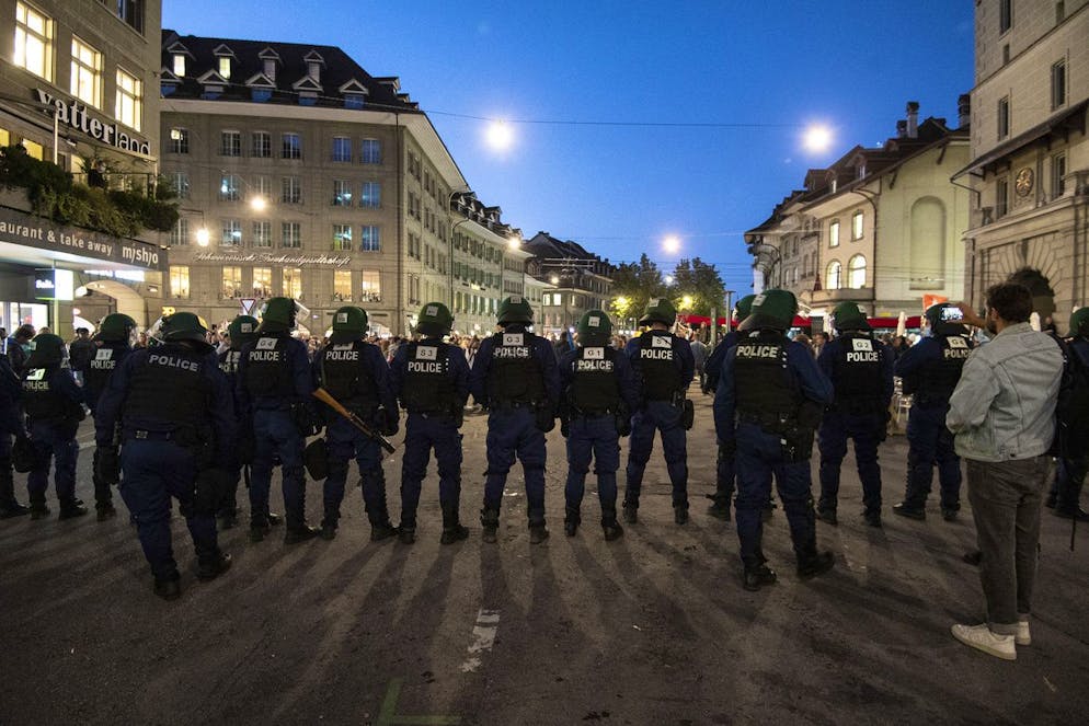
<path fill-rule="evenodd" d="M 64 227 L 18 209 L 0 208 L 0 242 L 67 252 L 140 269 L 162 270 L 167 267 L 167 252 L 154 244 L 78 227 Z"/>

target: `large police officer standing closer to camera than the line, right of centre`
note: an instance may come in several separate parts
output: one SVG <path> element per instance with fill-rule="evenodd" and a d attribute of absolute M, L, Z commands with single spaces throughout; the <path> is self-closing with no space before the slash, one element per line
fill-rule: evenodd
<path fill-rule="evenodd" d="M 775 474 L 790 525 L 798 575 L 809 579 L 833 567 L 830 552 L 817 552 L 811 493 L 813 433 L 824 406 L 832 403 L 832 382 L 801 343 L 786 331 L 798 310 L 787 290 L 768 290 L 753 300 L 741 324 L 742 337 L 726 352 L 714 396 L 714 425 L 727 451 L 737 458 L 737 539 L 744 587 L 758 590 L 776 581 L 761 546 L 760 508 Z"/>

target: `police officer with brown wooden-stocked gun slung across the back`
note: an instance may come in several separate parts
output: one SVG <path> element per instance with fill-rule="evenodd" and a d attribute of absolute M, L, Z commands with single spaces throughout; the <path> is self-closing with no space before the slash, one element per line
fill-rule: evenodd
<path fill-rule="evenodd" d="M 397 433 L 397 396 L 390 387 L 389 365 L 381 349 L 366 343 L 367 313 L 360 308 L 345 306 L 333 313 L 333 334 L 329 345 L 318 352 L 313 361 L 314 383 L 325 389 L 345 408 L 370 423 L 387 436 Z M 325 479 L 325 517 L 321 537 L 336 537 L 341 518 L 344 484 L 348 462 L 354 458 L 363 479 L 363 502 L 370 520 L 370 541 L 378 542 L 397 534 L 389 521 L 386 505 L 386 475 L 382 472 L 382 450 L 375 439 L 366 436 L 335 411 L 321 406 L 326 424 L 329 476 Z"/>

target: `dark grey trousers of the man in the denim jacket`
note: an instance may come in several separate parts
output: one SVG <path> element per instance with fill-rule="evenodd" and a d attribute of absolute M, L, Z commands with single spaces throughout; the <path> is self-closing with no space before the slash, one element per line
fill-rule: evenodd
<path fill-rule="evenodd" d="M 1052 475 L 1050 457 L 967 461 L 968 502 L 983 560 L 979 579 L 987 623 L 1015 635 L 1018 615 L 1032 611 L 1040 542 L 1040 505 Z"/>

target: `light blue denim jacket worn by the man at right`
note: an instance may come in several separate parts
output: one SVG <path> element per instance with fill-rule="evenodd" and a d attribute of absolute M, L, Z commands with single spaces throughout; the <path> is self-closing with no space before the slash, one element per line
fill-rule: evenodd
<path fill-rule="evenodd" d="M 1062 377 L 1058 344 L 1029 323 L 1010 325 L 973 350 L 945 416 L 956 453 L 976 461 L 1046 453 Z"/>

